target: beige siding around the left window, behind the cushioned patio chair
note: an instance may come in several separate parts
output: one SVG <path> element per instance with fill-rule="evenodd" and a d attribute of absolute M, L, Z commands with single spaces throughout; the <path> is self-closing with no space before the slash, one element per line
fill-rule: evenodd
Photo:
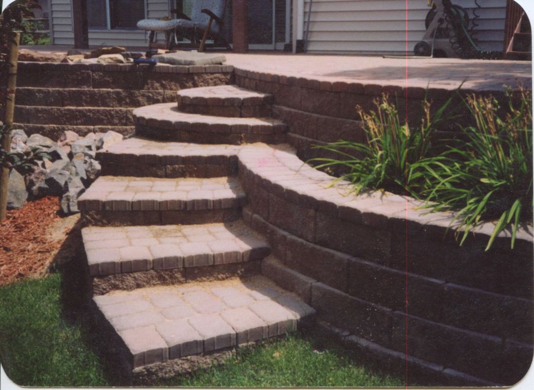
<path fill-rule="evenodd" d="M 53 44 L 74 45 L 71 0 L 51 0 Z M 170 15 L 172 0 L 146 0 L 146 14 L 159 19 Z M 158 41 L 164 41 L 164 34 L 158 34 Z M 148 40 L 142 30 L 89 30 L 90 46 L 147 46 Z"/>

